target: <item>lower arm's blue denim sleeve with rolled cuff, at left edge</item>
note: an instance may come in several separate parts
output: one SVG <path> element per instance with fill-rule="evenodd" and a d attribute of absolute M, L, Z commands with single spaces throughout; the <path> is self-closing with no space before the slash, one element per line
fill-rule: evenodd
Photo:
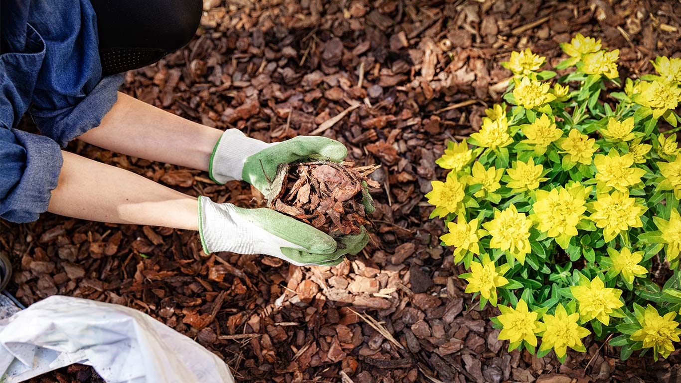
<path fill-rule="evenodd" d="M 12 16 L 17 22 L 22 14 Z M 19 27 L 22 33 L 12 29 L 18 37 L 3 40 L 0 55 L 0 217 L 29 222 L 47 210 L 62 157 L 51 138 L 14 129 L 31 102 L 35 72 L 45 55 L 39 33 L 25 20 Z"/>

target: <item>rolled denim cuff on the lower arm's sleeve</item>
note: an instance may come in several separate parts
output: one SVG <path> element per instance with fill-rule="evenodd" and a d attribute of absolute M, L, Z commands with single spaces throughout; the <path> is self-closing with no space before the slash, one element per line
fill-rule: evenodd
<path fill-rule="evenodd" d="M 46 136 L 17 129 L 12 129 L 12 133 L 26 149 L 26 163 L 21 179 L 0 201 L 0 211 L 7 221 L 31 222 L 47 211 L 50 192 L 59 181 L 63 158 L 57 142 Z"/>

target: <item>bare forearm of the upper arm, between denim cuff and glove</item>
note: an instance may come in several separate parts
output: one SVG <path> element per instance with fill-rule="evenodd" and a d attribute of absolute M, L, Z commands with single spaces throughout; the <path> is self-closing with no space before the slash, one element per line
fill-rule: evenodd
<path fill-rule="evenodd" d="M 222 131 L 118 93 L 101 124 L 78 139 L 110 151 L 208 170 Z"/>

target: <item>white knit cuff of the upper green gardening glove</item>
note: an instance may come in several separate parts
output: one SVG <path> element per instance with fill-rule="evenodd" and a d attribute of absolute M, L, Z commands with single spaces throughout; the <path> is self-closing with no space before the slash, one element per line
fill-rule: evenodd
<path fill-rule="evenodd" d="M 270 145 L 272 144 L 247 137 L 239 129 L 225 130 L 210 155 L 210 179 L 220 185 L 227 181 L 241 181 L 246 159 Z"/>

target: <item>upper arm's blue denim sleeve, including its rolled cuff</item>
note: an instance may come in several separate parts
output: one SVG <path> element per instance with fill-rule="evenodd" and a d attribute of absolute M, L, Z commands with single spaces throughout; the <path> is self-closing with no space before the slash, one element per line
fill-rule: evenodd
<path fill-rule="evenodd" d="M 33 91 L 31 115 L 42 134 L 62 147 L 97 127 L 116 102 L 123 74 L 101 77 L 97 19 L 90 0 L 32 1 L 46 55 Z"/>

